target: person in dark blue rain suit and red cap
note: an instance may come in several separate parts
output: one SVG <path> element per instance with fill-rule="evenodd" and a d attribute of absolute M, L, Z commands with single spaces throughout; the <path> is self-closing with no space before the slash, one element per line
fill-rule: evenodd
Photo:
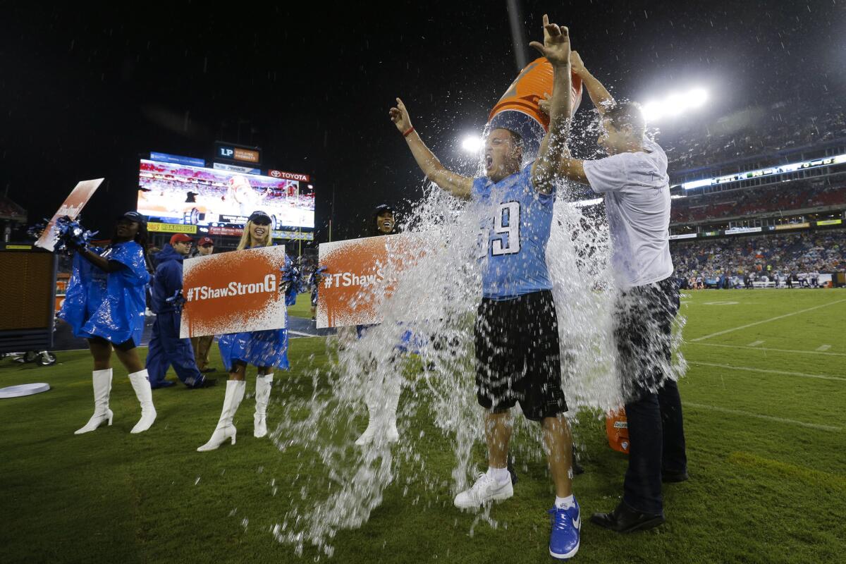
<path fill-rule="evenodd" d="M 154 390 L 173 386 L 172 381 L 165 380 L 171 365 L 179 380 L 190 388 L 214 386 L 216 382 L 206 378 L 197 368 L 190 339 L 179 338 L 181 306 L 175 299 L 170 299 L 182 290 L 182 261 L 190 253 L 191 243 L 193 241 L 188 235 L 176 233 L 156 255 L 158 266 L 150 293 L 150 309 L 156 314 L 156 321 L 153 322 L 146 360 L 150 386 Z"/>

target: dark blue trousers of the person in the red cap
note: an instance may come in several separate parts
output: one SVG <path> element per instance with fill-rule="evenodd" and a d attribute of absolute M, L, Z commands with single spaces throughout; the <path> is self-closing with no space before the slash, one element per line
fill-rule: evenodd
<path fill-rule="evenodd" d="M 203 382 L 204 377 L 197 368 L 190 339 L 179 338 L 180 318 L 179 312 L 165 311 L 158 314 L 153 322 L 150 351 L 146 360 L 151 387 L 162 386 L 168 368 L 172 365 L 185 386 L 195 387 Z"/>

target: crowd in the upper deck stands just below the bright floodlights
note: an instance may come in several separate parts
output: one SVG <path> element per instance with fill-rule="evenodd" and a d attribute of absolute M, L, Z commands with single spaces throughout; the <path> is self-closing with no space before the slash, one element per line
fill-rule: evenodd
<path fill-rule="evenodd" d="M 717 123 L 691 120 L 682 128 L 667 129 L 661 137 L 671 175 L 690 168 L 846 138 L 846 108 L 836 96 L 818 104 L 793 98 L 737 112 Z"/>

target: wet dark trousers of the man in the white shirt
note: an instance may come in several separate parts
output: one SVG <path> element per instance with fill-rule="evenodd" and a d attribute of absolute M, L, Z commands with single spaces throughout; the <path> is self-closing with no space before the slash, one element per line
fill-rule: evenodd
<path fill-rule="evenodd" d="M 662 513 L 662 471 L 684 472 L 684 423 L 678 386 L 670 378 L 678 288 L 672 278 L 620 294 L 614 341 L 629 420 L 629 469 L 623 501 L 632 509 Z"/>

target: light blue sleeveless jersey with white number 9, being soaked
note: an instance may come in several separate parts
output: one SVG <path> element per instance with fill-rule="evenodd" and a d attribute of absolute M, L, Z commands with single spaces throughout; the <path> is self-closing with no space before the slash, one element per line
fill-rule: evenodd
<path fill-rule="evenodd" d="M 531 183 L 529 163 L 497 183 L 475 178 L 472 199 L 481 204 L 482 296 L 516 298 L 552 289 L 547 242 L 555 194 L 541 194 Z"/>

